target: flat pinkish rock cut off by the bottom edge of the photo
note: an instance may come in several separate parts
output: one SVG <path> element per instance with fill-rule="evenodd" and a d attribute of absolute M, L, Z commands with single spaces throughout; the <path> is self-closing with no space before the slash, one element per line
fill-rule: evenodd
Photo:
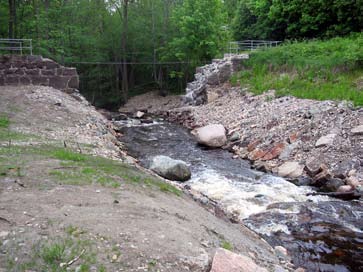
<path fill-rule="evenodd" d="M 251 258 L 218 248 L 210 272 L 267 272 Z"/>

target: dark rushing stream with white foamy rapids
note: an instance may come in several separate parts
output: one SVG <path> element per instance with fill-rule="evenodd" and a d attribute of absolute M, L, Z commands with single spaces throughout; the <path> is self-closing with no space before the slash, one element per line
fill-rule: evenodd
<path fill-rule="evenodd" d="M 115 121 L 128 153 L 148 166 L 155 155 L 190 165 L 192 189 L 218 202 L 271 246 L 285 247 L 306 271 L 363 271 L 362 201 L 306 196 L 313 188 L 251 169 L 221 149 L 198 145 L 190 133 L 163 120 Z"/>

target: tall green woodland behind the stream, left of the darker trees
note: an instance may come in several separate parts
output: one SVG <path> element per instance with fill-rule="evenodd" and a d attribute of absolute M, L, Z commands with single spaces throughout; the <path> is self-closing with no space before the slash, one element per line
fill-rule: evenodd
<path fill-rule="evenodd" d="M 35 54 L 76 66 L 97 106 L 150 88 L 182 91 L 195 66 L 225 47 L 226 24 L 222 0 L 0 3 L 0 38 L 31 38 Z"/>

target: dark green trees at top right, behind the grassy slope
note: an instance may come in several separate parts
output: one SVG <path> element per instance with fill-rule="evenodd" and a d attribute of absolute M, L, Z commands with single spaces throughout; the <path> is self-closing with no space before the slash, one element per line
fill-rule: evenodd
<path fill-rule="evenodd" d="M 362 0 L 241 0 L 237 40 L 331 38 L 363 30 Z"/>

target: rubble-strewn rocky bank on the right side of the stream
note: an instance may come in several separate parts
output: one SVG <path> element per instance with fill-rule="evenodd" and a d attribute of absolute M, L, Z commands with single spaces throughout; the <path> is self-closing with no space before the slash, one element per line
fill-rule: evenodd
<path fill-rule="evenodd" d="M 121 111 L 161 115 L 189 129 L 219 123 L 228 130 L 224 148 L 250 160 L 256 169 L 322 191 L 361 190 L 362 108 L 275 97 L 274 91 L 254 96 L 228 83 L 210 88 L 209 103 L 200 106 L 185 107 L 177 96 L 146 96 L 131 99 Z"/>

